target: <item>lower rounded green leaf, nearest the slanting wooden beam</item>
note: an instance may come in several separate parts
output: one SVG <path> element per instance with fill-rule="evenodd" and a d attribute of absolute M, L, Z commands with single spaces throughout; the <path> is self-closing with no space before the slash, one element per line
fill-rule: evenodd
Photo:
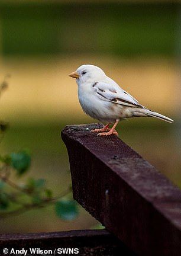
<path fill-rule="evenodd" d="M 56 202 L 56 214 L 63 220 L 73 220 L 78 215 L 77 204 L 75 200 L 59 200 Z"/>

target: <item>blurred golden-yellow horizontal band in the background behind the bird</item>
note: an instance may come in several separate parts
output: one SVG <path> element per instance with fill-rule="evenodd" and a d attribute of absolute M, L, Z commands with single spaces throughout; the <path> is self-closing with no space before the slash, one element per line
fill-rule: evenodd
<path fill-rule="evenodd" d="M 171 116 L 177 114 L 180 104 L 179 66 L 173 60 L 59 55 L 1 61 L 1 78 L 2 74 L 11 74 L 9 91 L 1 100 L 2 115 L 9 119 L 13 109 L 12 118 L 24 116 L 27 122 L 52 121 L 70 117 L 70 113 L 83 118 L 76 82 L 68 76 L 82 63 L 104 68 L 143 105 Z"/>

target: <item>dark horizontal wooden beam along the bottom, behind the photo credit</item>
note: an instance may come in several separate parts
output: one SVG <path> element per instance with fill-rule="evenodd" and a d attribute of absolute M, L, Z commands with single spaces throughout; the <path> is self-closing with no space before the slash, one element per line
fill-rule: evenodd
<path fill-rule="evenodd" d="M 42 250 L 53 251 L 53 254 L 61 255 L 61 248 L 78 248 L 81 256 L 103 255 L 103 256 L 134 256 L 134 254 L 125 247 L 114 235 L 104 230 L 82 230 L 67 232 L 50 232 L 50 233 L 26 233 L 26 234 L 5 234 L 0 235 L 0 255 L 3 249 L 8 248 L 10 254 L 11 249 L 27 249 L 28 255 L 30 248 L 40 248 Z M 59 249 L 59 251 L 58 251 Z M 17 255 L 17 254 L 16 254 Z M 19 255 L 19 254 L 18 254 Z M 35 255 L 39 255 L 38 253 Z M 46 254 L 41 254 L 46 255 Z M 66 255 L 63 254 L 62 255 Z M 76 254 L 67 254 L 76 255 Z"/>

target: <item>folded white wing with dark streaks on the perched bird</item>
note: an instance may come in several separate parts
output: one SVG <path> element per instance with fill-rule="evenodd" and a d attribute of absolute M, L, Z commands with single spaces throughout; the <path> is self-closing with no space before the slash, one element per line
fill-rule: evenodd
<path fill-rule="evenodd" d="M 108 84 L 106 82 L 96 82 L 94 84 L 96 95 L 104 101 L 110 101 L 115 104 L 127 105 L 129 107 L 144 108 L 128 92 L 121 89 L 117 84 Z"/>

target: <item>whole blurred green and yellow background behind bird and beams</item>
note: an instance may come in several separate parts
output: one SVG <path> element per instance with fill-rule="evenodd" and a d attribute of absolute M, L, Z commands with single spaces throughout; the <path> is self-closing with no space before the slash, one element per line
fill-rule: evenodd
<path fill-rule="evenodd" d="M 143 105 L 174 119 L 131 119 L 119 136 L 181 187 L 180 22 L 173 1 L 0 1 L 0 78 L 11 74 L 1 98 L 10 129 L 1 153 L 29 148 L 31 175 L 54 194 L 70 184 L 60 131 L 95 122 L 85 116 L 77 85 L 67 76 L 85 63 L 100 66 Z M 53 206 L 0 220 L 2 233 L 88 229 L 98 222 L 80 207 L 64 222 Z"/>

